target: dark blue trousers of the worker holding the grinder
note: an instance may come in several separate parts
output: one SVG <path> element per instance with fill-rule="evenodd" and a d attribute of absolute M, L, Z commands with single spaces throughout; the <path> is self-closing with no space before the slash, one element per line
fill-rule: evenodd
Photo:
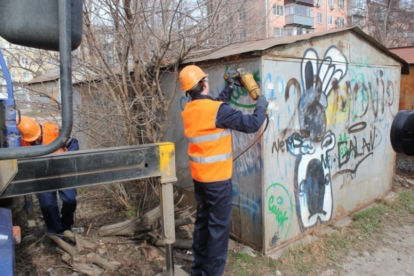
<path fill-rule="evenodd" d="M 233 192 L 231 181 L 194 183 L 197 218 L 194 224 L 191 267 L 193 276 L 220 276 L 227 259 Z"/>

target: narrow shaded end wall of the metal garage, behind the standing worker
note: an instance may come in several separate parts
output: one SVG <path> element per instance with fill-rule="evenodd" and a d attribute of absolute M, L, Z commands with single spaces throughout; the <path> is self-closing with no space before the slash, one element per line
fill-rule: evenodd
<path fill-rule="evenodd" d="M 236 64 L 219 62 L 220 65 L 206 64 L 203 68 L 208 75 L 210 95 L 218 96 L 226 86 L 223 74 L 229 67 L 240 66 L 252 71 L 257 81 L 260 82 L 260 59 L 250 58 Z M 171 74 L 172 75 L 172 74 Z M 163 87 L 173 87 L 173 78 L 166 75 L 162 79 Z M 255 102 L 250 98 L 245 89 L 235 87 L 229 105 L 235 109 L 242 110 L 246 114 L 253 113 Z M 184 136 L 183 119 L 181 112 L 189 101 L 183 92 L 178 88 L 175 100 L 171 106 L 169 117 L 171 128 L 165 141 L 176 144 L 176 166 L 178 183 L 182 187 L 192 186 L 191 175 L 188 168 L 188 142 Z M 245 134 L 238 131 L 232 132 L 233 156 L 239 155 L 259 135 Z M 255 249 L 262 248 L 262 145 L 260 142 L 247 150 L 239 159 L 233 163 L 233 213 L 230 225 L 230 234 Z M 187 203 L 195 203 L 193 188 L 186 189 Z"/>

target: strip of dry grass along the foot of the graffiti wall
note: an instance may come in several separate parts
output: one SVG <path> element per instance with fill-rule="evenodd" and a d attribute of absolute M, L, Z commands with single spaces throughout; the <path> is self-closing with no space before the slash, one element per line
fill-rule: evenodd
<path fill-rule="evenodd" d="M 392 204 L 378 201 L 377 204 L 352 216 L 349 227 L 338 229 L 333 234 L 321 234 L 308 244 L 297 244 L 277 261 L 263 257 L 259 252 L 253 258 L 246 254 L 229 254 L 226 275 L 338 275 L 340 263 L 348 254 L 360 255 L 373 252 L 382 241 L 384 227 L 414 220 L 414 190 L 404 189 Z"/>

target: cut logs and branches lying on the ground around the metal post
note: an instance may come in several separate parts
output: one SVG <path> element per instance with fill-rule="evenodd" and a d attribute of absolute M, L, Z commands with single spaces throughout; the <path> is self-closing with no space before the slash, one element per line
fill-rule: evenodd
<path fill-rule="evenodd" d="M 177 202 L 174 207 L 182 201 L 183 197 L 174 194 L 174 202 Z M 191 249 L 193 232 L 181 229 L 181 226 L 193 223 L 190 217 L 195 211 L 191 212 L 191 208 L 186 206 L 178 208 L 174 212 L 176 227 L 174 248 Z M 63 248 L 63 250 L 58 249 L 62 254 L 62 260 L 70 265 L 74 271 L 90 276 L 98 276 L 103 273 L 102 268 L 109 272 L 118 270 L 120 263 L 108 258 L 106 248 L 103 248 L 105 247 L 104 243 L 92 242 L 71 231 L 65 231 L 63 234 L 74 242 L 75 246 L 53 234 L 49 234 L 48 237 Z M 103 226 L 99 229 L 99 234 L 104 237 L 127 236 L 126 239 L 147 240 L 157 246 L 165 246 L 161 237 L 160 206 L 155 207 L 141 217 Z"/>

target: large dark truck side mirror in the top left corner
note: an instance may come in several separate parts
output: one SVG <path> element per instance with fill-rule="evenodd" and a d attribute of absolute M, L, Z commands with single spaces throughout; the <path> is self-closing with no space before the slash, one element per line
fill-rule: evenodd
<path fill-rule="evenodd" d="M 13 44 L 59 51 L 57 0 L 0 0 L 0 36 Z M 72 51 L 82 40 L 83 0 L 70 0 Z"/>

